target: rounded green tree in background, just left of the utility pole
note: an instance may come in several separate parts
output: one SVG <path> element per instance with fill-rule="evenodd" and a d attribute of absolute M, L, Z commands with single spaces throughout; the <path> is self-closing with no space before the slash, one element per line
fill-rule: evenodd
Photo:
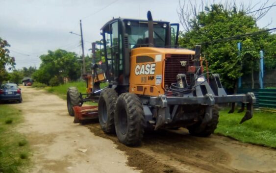
<path fill-rule="evenodd" d="M 81 63 L 74 52 L 62 49 L 49 50 L 48 54 L 41 55 L 40 59 L 40 68 L 32 75 L 38 82 L 49 84 L 51 78 L 54 78 L 52 81 L 58 79 L 62 82 L 64 77 L 76 80 L 80 76 Z"/>

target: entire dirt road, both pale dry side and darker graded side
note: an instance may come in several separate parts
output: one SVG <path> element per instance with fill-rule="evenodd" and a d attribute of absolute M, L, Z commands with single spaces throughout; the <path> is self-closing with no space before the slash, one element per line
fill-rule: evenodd
<path fill-rule="evenodd" d="M 276 149 L 185 129 L 147 133 L 141 147 L 128 148 L 97 122 L 73 124 L 65 100 L 32 88 L 23 94 L 14 106 L 24 113 L 18 130 L 34 151 L 31 173 L 276 173 Z"/>

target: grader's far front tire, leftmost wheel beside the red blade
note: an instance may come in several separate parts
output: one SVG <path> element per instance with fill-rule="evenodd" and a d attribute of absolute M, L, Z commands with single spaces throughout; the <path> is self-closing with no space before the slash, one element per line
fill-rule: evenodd
<path fill-rule="evenodd" d="M 67 90 L 67 110 L 70 116 L 74 117 L 74 106 L 78 106 L 80 99 L 79 93 L 76 87 L 69 87 Z"/>

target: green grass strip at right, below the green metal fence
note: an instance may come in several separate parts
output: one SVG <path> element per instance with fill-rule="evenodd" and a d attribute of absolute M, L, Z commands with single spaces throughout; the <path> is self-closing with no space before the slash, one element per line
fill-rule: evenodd
<path fill-rule="evenodd" d="M 253 118 L 239 124 L 243 113 L 228 114 L 220 111 L 217 134 L 232 137 L 241 142 L 276 148 L 276 113 L 254 111 Z"/>

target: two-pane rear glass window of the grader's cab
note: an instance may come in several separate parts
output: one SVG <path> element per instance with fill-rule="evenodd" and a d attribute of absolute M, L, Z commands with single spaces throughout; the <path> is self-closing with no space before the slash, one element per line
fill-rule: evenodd
<path fill-rule="evenodd" d="M 149 46 L 149 28 L 147 22 L 125 21 L 128 44 L 130 48 Z M 164 27 L 165 26 L 165 27 Z M 165 23 L 153 23 L 154 47 L 164 48 L 166 46 L 168 25 Z"/>

